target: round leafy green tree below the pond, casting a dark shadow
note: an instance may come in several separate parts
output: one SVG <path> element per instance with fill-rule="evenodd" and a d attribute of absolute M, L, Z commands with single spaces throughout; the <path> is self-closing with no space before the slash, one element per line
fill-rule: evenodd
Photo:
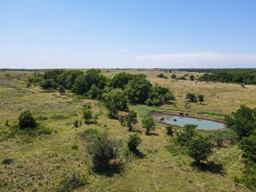
<path fill-rule="evenodd" d="M 189 141 L 188 155 L 195 159 L 196 163 L 207 160 L 212 154 L 214 143 L 207 136 L 198 134 Z"/>

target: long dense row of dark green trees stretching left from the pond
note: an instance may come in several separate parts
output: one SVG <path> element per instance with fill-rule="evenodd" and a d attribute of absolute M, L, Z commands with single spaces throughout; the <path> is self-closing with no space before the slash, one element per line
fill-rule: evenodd
<path fill-rule="evenodd" d="M 77 95 L 88 99 L 102 100 L 104 93 L 116 88 L 122 90 L 127 100 L 134 104 L 159 106 L 173 100 L 174 95 L 168 88 L 153 86 L 145 74 L 129 74 L 122 72 L 112 79 L 104 76 L 100 69 L 81 70 L 53 69 L 45 70 L 44 74 L 34 72 L 28 77 L 29 83 L 39 84 L 43 89 L 64 86 Z"/>

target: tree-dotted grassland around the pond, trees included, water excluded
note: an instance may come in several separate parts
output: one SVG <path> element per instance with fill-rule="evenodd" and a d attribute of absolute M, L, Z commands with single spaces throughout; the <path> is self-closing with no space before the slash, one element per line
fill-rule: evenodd
<path fill-rule="evenodd" d="M 169 80 L 159 70 L 8 73 L 0 78 L 0 191 L 255 191 L 251 84 L 223 88 L 178 70 L 163 72 Z M 221 119 L 227 129 L 163 125 L 154 111 Z"/>

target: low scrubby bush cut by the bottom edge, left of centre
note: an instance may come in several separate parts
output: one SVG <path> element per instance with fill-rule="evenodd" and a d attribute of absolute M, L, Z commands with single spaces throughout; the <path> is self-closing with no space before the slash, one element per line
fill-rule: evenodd
<path fill-rule="evenodd" d="M 62 179 L 58 185 L 56 191 L 58 192 L 70 192 L 81 186 L 88 184 L 85 177 L 79 178 L 76 176 L 76 172 L 72 173 L 69 177 Z"/>

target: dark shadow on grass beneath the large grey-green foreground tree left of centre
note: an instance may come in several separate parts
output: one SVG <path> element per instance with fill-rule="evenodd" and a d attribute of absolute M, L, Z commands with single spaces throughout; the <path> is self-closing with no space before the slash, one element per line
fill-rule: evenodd
<path fill-rule="evenodd" d="M 93 172 L 98 173 L 100 175 L 105 175 L 106 177 L 113 177 L 115 174 L 121 174 L 124 170 L 124 163 L 117 162 L 115 160 L 111 161 L 108 166 L 104 168 L 93 168 Z"/>

